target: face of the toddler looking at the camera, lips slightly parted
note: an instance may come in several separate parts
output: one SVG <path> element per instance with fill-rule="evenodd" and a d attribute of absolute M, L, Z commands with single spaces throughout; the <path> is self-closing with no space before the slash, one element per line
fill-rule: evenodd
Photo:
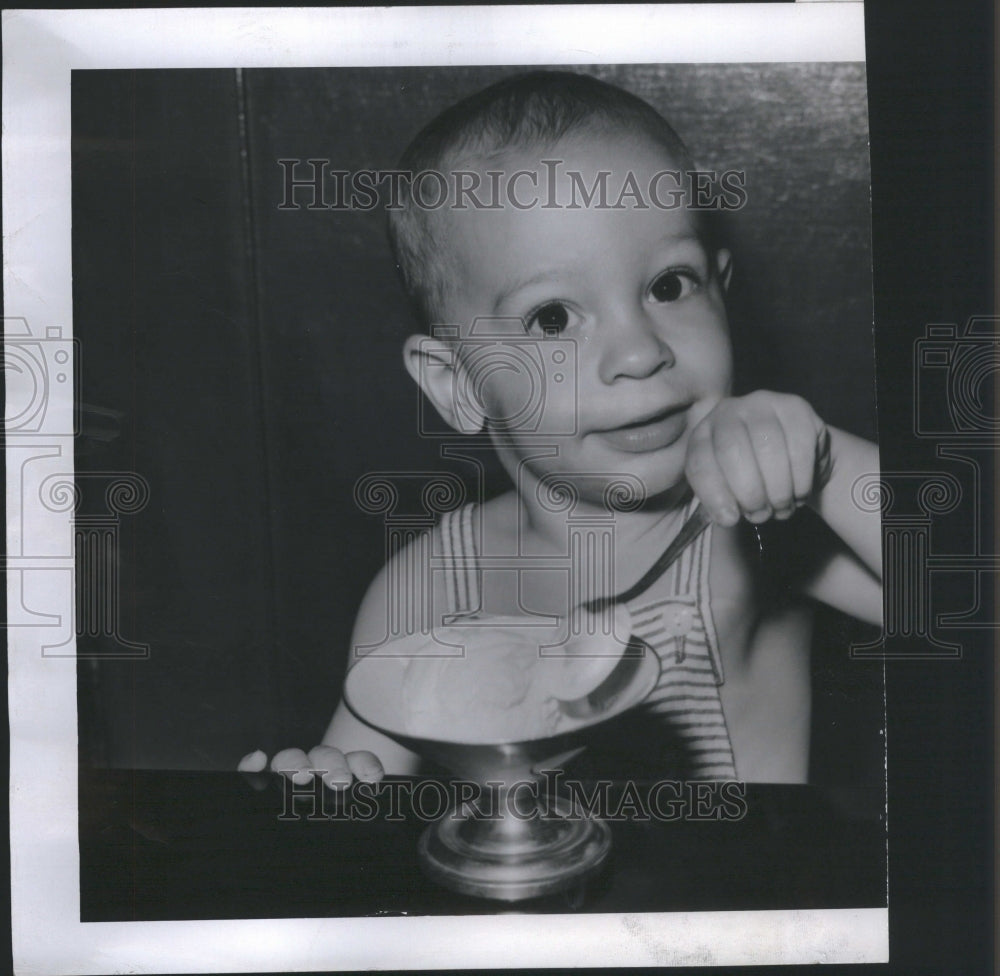
<path fill-rule="evenodd" d="M 706 251 L 684 206 L 636 209 L 632 198 L 623 209 L 599 208 L 596 199 L 565 206 L 571 198 L 565 174 L 572 171 L 589 188 L 599 171 L 609 170 L 609 203 L 629 173 L 645 194 L 656 173 L 677 168 L 654 143 L 577 135 L 545 158 L 561 160 L 556 199 L 563 206 L 506 205 L 444 217 L 446 246 L 459 268 L 445 321 L 464 330 L 479 320 L 477 335 L 463 331 L 463 354 L 480 364 L 475 383 L 488 415 L 517 418 L 506 430 L 491 430 L 508 470 L 527 462 L 536 476 L 586 473 L 599 482 L 624 473 L 640 478 L 648 497 L 659 495 L 683 478 L 687 439 L 703 401 L 730 388 L 717 257 Z M 501 168 L 508 175 L 537 172 L 539 187 L 551 170 L 540 166 L 537 152 L 481 167 Z M 522 178 L 522 201 L 528 187 Z M 728 255 L 719 260 L 728 263 Z M 498 327 L 487 321 L 486 328 L 500 338 L 483 332 L 489 317 Z M 496 350 L 492 358 L 487 344 Z M 518 366 L 526 356 L 539 364 L 541 382 L 537 370 L 532 375 Z M 557 455 L 532 459 L 542 444 L 556 445 Z"/>

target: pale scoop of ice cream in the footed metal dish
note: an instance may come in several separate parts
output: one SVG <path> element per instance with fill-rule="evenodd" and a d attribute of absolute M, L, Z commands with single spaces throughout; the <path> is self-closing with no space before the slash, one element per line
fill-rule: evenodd
<path fill-rule="evenodd" d="M 538 626 L 528 617 L 460 618 L 413 643 L 402 678 L 405 731 L 425 739 L 499 743 L 579 725 L 560 708 L 596 688 L 617 663 L 628 611 L 600 620 L 580 611 Z M 610 632 L 608 632 L 610 631 Z M 443 642 L 447 642 L 444 644 Z"/>

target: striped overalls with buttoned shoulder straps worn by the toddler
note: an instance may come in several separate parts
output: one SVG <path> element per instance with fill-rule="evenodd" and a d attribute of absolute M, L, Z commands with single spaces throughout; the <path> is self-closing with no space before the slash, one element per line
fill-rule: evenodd
<path fill-rule="evenodd" d="M 692 499 L 685 517 L 695 504 Z M 449 613 L 481 606 L 475 513 L 473 503 L 441 519 Z M 667 568 L 657 587 L 666 596 L 649 600 L 643 594 L 628 607 L 632 633 L 653 648 L 661 668 L 659 682 L 636 710 L 669 727 L 691 779 L 724 780 L 736 778 L 736 761 L 719 695 L 722 659 L 708 589 L 711 537 L 709 527 Z"/>

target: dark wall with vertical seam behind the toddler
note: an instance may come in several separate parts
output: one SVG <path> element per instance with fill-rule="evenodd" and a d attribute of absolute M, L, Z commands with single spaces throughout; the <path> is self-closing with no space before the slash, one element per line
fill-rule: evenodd
<path fill-rule="evenodd" d="M 302 209 L 279 210 L 277 160 L 391 168 L 437 112 L 516 70 L 74 73 L 78 470 L 150 488 L 119 524 L 120 636 L 150 650 L 81 642 L 85 761 L 231 769 L 319 741 L 384 560 L 355 482 L 471 469 L 418 436 L 383 212 L 310 210 L 301 190 Z M 702 168 L 745 171 L 748 204 L 723 228 L 741 385 L 874 437 L 864 66 L 579 70 L 649 100 Z M 877 669 L 838 667 L 842 621 L 824 635 L 823 772 L 880 775 Z"/>

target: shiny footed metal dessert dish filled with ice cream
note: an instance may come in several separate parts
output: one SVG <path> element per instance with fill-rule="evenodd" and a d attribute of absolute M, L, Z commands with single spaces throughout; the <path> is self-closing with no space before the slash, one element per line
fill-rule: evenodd
<path fill-rule="evenodd" d="M 569 620 L 462 616 L 355 663 L 348 707 L 489 797 L 457 798 L 424 832 L 419 854 L 432 878 L 517 901 L 599 870 L 611 849 L 608 826 L 548 795 L 543 773 L 582 751 L 576 733 L 655 687 L 659 660 L 629 633 L 621 605 Z"/>

